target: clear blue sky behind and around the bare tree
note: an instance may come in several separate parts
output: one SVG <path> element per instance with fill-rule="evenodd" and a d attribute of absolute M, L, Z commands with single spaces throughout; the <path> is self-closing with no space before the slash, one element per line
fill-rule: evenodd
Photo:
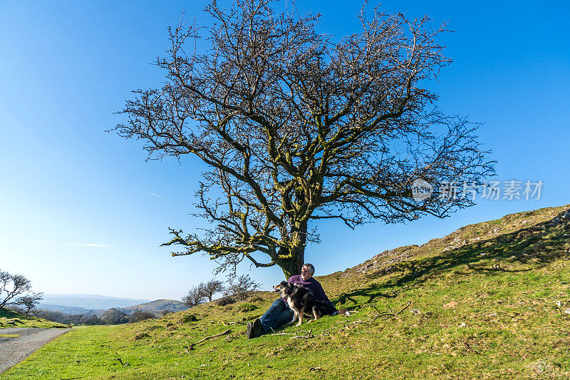
<path fill-rule="evenodd" d="M 207 257 L 170 257 L 167 227 L 192 231 L 193 159 L 145 162 L 142 144 L 105 133 L 135 88 L 160 86 L 150 63 L 168 25 L 202 19 L 202 1 L 0 2 L 0 268 L 38 292 L 180 299 L 212 278 Z M 462 225 L 570 203 L 570 43 L 566 1 L 384 1 L 385 10 L 449 21 L 452 66 L 433 87 L 449 114 L 483 122 L 497 180 L 542 180 L 540 200 L 481 200 L 445 220 L 355 231 L 319 225 L 306 260 L 317 274 L 378 252 L 422 244 Z M 323 14 L 321 31 L 357 31 L 358 2 L 297 1 Z M 170 202 L 155 197 L 154 193 Z M 172 203 L 171 203 L 172 202 Z M 174 203 L 174 204 L 173 204 Z M 242 272 L 279 282 L 278 268 Z M 224 277 L 219 277 L 224 279 Z"/>

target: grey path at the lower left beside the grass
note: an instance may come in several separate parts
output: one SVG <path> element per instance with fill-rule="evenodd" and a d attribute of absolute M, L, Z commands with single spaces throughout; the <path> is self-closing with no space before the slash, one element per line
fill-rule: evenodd
<path fill-rule="evenodd" d="M 18 334 L 20 337 L 0 337 L 0 374 L 26 359 L 33 351 L 71 329 L 36 329 L 14 327 L 0 329 L 0 335 Z"/>

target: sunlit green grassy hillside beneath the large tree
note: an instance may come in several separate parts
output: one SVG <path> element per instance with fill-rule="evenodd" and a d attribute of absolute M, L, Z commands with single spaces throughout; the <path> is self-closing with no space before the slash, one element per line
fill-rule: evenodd
<path fill-rule="evenodd" d="M 462 227 L 318 277 L 337 307 L 353 311 L 348 317 L 248 340 L 245 322 L 275 298 L 259 292 L 225 307 L 76 329 L 4 376 L 568 379 L 569 210 Z"/>

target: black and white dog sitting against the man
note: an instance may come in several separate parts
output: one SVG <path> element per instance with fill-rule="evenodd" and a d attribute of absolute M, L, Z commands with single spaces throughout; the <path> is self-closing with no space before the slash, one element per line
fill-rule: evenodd
<path fill-rule="evenodd" d="M 323 315 L 331 315 L 335 312 L 331 304 L 321 301 L 313 292 L 305 289 L 302 285 L 283 281 L 281 284 L 275 285 L 273 289 L 275 292 L 280 292 L 281 297 L 287 300 L 287 304 L 289 304 L 289 307 L 291 307 L 295 314 L 291 323 L 299 319 L 297 326 L 303 323 L 305 315 L 314 317 L 314 319 L 309 321 L 312 322 L 323 317 Z"/>

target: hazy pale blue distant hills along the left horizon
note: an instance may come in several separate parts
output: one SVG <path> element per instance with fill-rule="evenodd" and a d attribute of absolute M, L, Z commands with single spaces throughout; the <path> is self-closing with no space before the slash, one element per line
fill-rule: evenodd
<path fill-rule="evenodd" d="M 112 307 L 130 307 L 136 304 L 150 302 L 150 299 L 132 299 L 106 297 L 98 294 L 44 294 L 38 309 L 56 310 L 71 314 L 86 314 L 88 311 L 105 310 Z M 75 308 L 70 311 L 53 309 L 53 307 Z M 76 310 L 76 311 L 72 311 Z"/>

